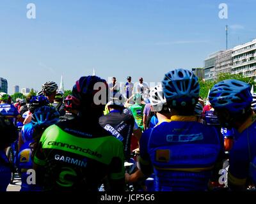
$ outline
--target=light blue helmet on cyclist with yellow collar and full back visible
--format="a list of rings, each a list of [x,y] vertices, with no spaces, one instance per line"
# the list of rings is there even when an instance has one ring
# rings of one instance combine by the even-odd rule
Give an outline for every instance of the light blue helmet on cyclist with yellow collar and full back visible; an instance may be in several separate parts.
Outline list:
[[[168,105],[195,106],[200,91],[198,78],[187,69],[175,69],[164,75],[163,91]]]

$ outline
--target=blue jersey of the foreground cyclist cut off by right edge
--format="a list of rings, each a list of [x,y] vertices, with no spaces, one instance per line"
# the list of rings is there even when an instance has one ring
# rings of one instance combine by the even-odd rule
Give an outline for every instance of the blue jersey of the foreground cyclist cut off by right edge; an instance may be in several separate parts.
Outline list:
[[[238,129],[239,133],[236,133],[238,135],[235,136],[236,142],[230,150],[230,166],[228,168],[228,179],[237,185],[244,185],[249,175],[256,178],[256,170],[253,171],[252,168],[252,164],[256,164],[256,120],[250,117],[244,122],[243,127]]]

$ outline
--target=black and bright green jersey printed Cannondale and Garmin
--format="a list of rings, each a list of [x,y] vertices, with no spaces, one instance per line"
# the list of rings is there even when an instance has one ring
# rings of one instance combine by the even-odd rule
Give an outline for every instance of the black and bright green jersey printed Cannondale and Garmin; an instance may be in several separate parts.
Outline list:
[[[97,191],[106,175],[110,184],[124,182],[122,142],[90,119],[63,120],[45,129],[34,163],[45,190]],[[112,187],[123,190],[120,184]]]

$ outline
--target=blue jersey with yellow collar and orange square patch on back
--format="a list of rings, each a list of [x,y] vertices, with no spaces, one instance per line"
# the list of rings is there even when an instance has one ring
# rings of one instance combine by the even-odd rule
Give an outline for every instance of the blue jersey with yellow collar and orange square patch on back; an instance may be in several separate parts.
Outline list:
[[[204,191],[221,152],[219,135],[196,117],[171,120],[143,133],[141,164],[154,166],[156,191]]]

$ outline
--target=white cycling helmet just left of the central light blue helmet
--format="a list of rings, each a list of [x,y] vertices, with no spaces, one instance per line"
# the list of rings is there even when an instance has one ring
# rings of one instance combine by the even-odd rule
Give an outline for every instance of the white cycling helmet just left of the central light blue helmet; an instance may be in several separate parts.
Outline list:
[[[162,85],[156,85],[156,87],[151,88],[148,99],[154,112],[170,111],[164,98]]]

